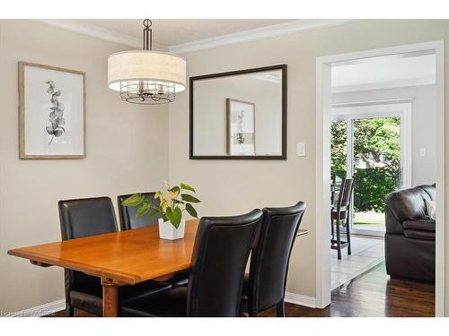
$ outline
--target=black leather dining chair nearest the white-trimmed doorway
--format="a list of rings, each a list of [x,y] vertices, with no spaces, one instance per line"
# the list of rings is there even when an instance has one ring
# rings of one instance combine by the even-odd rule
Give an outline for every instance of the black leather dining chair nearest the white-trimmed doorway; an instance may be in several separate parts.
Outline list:
[[[263,209],[260,232],[251,251],[250,273],[245,274],[241,312],[257,316],[277,306],[277,317],[285,316],[284,297],[288,261],[306,205]]]

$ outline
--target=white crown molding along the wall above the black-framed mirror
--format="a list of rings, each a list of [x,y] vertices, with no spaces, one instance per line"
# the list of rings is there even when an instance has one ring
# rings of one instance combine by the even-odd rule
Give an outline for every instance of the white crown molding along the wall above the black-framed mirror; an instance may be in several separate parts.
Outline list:
[[[304,19],[292,22],[262,27],[254,30],[244,30],[233,34],[218,36],[209,39],[199,39],[188,43],[182,43],[167,47],[173,53],[189,53],[192,51],[209,49],[213,47],[226,46],[235,43],[247,42],[255,39],[273,38],[280,35],[291,34],[297,31],[314,30],[325,27],[337,26],[353,19]]]

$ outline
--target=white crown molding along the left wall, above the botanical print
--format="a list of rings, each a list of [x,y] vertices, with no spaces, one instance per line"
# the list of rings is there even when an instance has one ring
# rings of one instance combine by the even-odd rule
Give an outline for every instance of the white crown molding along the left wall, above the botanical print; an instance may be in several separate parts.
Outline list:
[[[70,30],[79,34],[91,36],[97,39],[105,39],[110,42],[118,43],[128,47],[134,47],[138,50],[143,47],[143,40],[134,36],[123,34],[115,30],[107,30],[95,24],[88,22],[81,22],[80,20],[69,19],[36,19],[37,22],[47,23],[51,26],[61,28],[63,30]],[[167,47],[153,43],[154,50],[166,51]]]

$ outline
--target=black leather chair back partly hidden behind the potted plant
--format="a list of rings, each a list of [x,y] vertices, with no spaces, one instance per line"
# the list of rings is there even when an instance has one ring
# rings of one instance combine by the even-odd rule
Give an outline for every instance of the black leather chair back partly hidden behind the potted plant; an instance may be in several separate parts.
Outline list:
[[[156,193],[141,193],[146,200],[151,202],[155,207],[159,208],[159,200],[154,199],[154,194]],[[128,230],[132,228],[144,228],[147,226],[157,225],[157,220],[162,218],[162,214],[158,213],[152,217],[148,215],[136,217],[137,207],[128,207],[122,205],[129,196],[133,194],[122,194],[117,197],[117,202],[119,204],[119,218],[120,218],[120,228],[122,230]]]

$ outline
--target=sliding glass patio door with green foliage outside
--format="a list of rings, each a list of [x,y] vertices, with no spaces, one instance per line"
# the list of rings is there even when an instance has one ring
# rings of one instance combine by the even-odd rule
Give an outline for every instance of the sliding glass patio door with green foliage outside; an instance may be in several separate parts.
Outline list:
[[[355,178],[350,225],[356,234],[382,236],[385,196],[409,186],[410,107],[395,103],[332,108],[331,172],[337,191],[340,177]]]

